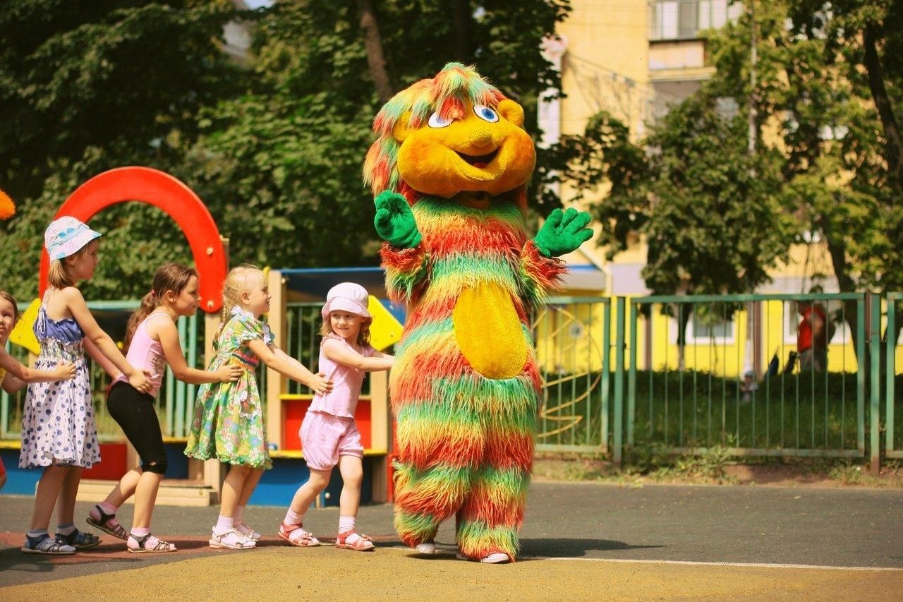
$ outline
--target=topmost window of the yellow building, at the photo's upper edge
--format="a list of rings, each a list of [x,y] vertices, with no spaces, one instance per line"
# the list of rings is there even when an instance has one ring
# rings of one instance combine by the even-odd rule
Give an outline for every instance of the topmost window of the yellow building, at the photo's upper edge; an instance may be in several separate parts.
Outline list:
[[[685,40],[719,29],[740,16],[743,5],[731,0],[651,0],[649,40]]]

